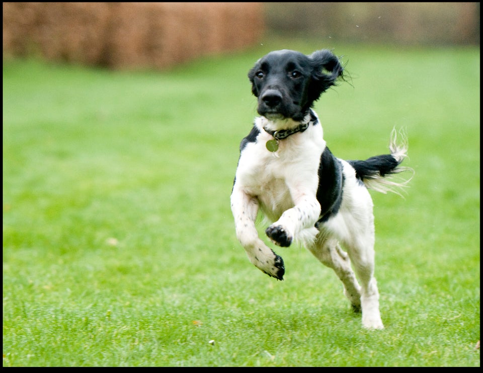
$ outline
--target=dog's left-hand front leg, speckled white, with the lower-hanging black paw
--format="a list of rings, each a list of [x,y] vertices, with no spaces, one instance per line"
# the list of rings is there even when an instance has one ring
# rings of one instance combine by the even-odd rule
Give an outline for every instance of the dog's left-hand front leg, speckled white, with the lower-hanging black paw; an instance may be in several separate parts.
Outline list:
[[[236,238],[245,248],[252,264],[269,276],[283,280],[285,267],[282,258],[258,237],[255,227],[258,209],[259,202],[256,198],[236,186],[233,188],[231,211],[235,220]]]

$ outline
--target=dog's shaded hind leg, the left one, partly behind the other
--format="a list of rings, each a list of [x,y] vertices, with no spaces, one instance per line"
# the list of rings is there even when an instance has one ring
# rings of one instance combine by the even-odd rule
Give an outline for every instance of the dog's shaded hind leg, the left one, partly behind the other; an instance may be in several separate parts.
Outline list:
[[[332,268],[344,284],[344,294],[356,311],[361,309],[361,287],[357,282],[351,261],[335,239],[317,240],[308,246],[310,252],[324,265]]]

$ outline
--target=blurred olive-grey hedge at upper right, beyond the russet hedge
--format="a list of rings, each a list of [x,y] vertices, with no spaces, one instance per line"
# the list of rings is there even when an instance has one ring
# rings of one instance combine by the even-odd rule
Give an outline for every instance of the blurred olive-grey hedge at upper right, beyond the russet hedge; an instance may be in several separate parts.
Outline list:
[[[282,36],[349,42],[479,45],[479,3],[264,3]]]

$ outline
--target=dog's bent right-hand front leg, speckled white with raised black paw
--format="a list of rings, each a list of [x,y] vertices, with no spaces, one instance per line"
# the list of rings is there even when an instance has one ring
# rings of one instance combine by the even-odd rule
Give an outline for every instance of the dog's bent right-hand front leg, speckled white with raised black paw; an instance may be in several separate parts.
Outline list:
[[[306,241],[313,240],[318,233],[314,225],[320,216],[320,204],[315,195],[310,192],[292,195],[295,206],[286,210],[265,231],[275,245],[282,247],[290,246],[297,236],[300,241]]]

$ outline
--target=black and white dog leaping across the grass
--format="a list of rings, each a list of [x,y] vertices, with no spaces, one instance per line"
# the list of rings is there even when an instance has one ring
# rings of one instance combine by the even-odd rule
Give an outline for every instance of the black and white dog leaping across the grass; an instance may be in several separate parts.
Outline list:
[[[236,237],[257,268],[279,280],[285,273],[282,258],[258,236],[255,220],[261,209],[273,222],[266,234],[275,245],[302,243],[342,280],[352,306],[362,309],[363,326],[383,329],[373,275],[373,204],[367,188],[386,192],[404,184],[384,176],[407,169],[399,166],[407,147],[396,144],[393,130],[390,155],[366,161],[332,155],[312,106],[342,72],[341,62],[329,50],[309,56],[279,50],[256,62],[248,77],[260,117],[240,144],[231,210]]]

